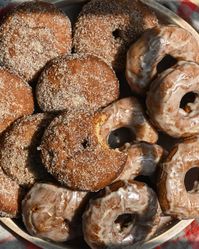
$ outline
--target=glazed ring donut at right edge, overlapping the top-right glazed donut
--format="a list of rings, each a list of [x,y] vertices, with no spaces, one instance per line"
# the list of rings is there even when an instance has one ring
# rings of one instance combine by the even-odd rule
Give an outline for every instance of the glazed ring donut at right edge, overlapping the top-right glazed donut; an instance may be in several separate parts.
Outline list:
[[[146,104],[149,116],[159,129],[173,137],[199,133],[198,81],[199,65],[182,61],[152,82]],[[181,106],[187,94],[194,95],[194,102],[185,101],[186,105]]]

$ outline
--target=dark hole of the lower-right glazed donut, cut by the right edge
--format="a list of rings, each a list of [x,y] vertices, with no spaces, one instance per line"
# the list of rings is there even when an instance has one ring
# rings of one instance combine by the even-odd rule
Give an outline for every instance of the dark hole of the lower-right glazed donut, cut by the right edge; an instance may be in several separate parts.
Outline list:
[[[184,178],[184,185],[189,193],[199,192],[199,167],[191,168]]]

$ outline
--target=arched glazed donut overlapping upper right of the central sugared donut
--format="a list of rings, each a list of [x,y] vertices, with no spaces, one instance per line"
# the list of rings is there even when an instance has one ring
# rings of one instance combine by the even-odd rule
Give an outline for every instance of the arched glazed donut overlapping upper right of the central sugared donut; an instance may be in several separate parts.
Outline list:
[[[144,110],[135,97],[123,98],[104,108],[98,115],[98,132],[104,144],[108,144],[111,132],[128,128],[137,141],[155,143],[158,135],[147,121]],[[119,138],[118,138],[119,139]]]

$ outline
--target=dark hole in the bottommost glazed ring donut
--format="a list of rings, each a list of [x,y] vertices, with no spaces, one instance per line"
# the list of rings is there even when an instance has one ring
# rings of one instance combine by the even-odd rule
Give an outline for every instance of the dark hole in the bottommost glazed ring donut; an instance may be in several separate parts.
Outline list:
[[[117,229],[122,232],[129,226],[135,223],[135,215],[134,214],[121,214],[115,220],[115,224]]]

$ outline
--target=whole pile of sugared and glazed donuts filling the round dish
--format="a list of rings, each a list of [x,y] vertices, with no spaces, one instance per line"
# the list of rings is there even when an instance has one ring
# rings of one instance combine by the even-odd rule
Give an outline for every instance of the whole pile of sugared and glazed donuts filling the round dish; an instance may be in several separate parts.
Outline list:
[[[139,248],[162,216],[199,217],[197,63],[197,39],[139,0],[91,0],[74,25],[50,3],[7,10],[0,215],[92,249]]]

